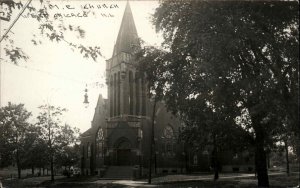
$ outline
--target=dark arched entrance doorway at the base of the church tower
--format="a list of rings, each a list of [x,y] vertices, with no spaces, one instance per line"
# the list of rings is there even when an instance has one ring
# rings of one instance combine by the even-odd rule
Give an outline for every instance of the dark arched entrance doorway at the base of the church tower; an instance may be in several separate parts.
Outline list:
[[[126,138],[121,138],[116,142],[115,147],[115,165],[129,166],[131,165],[131,144]]]

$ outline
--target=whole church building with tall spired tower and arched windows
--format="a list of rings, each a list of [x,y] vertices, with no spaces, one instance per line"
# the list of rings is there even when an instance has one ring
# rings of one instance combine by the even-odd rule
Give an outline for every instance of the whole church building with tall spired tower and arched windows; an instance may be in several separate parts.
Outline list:
[[[153,101],[144,76],[136,70],[133,53],[140,48],[130,4],[127,2],[113,54],[106,61],[108,99],[98,98],[91,128],[81,135],[81,169],[86,175],[111,176],[138,169],[149,171]],[[184,171],[180,121],[156,105],[153,168],[156,173]],[[154,170],[153,170],[154,172]]]

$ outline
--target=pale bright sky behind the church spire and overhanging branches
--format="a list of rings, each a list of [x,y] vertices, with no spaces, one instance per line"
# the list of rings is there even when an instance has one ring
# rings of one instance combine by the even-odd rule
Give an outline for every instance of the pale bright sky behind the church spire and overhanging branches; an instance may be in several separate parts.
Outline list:
[[[129,2],[139,37],[146,45],[160,45],[162,37],[150,22],[158,1]],[[51,16],[57,13],[82,14],[82,8],[89,7],[87,17],[63,18],[65,25],[80,26],[85,37],[81,39],[78,34],[69,32],[65,39],[86,46],[99,46],[103,57],[95,62],[92,58],[84,58],[78,50],[73,51],[65,42],[51,42],[40,35],[35,19],[21,16],[8,36],[29,59],[14,65],[3,50],[8,42],[1,42],[1,105],[5,106],[8,102],[25,104],[33,114],[32,123],[39,113],[38,106],[49,103],[64,107],[68,111],[63,120],[84,132],[91,126],[98,96],[101,94],[107,98],[105,60],[112,55],[126,1],[56,0],[50,3],[53,6]],[[105,8],[104,4],[112,8]],[[33,0],[32,5],[38,7],[40,3]],[[10,23],[1,21],[1,36],[19,11],[14,10]],[[25,10],[22,15],[27,14]],[[40,40],[41,44],[34,45],[33,39]],[[83,104],[85,88],[88,89],[87,108]]]

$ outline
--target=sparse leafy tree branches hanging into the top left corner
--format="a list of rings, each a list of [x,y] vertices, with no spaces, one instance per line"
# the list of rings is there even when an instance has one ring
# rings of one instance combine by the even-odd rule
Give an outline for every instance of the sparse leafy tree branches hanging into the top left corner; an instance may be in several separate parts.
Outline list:
[[[12,20],[13,15],[21,16],[24,11],[27,11],[27,17],[32,18],[38,23],[39,34],[33,34],[32,44],[40,45],[42,40],[38,36],[45,37],[50,41],[64,42],[71,47],[71,49],[79,51],[85,58],[92,58],[96,61],[98,56],[101,56],[100,47],[98,46],[85,46],[83,44],[76,44],[69,41],[66,37],[67,33],[76,34],[80,38],[85,37],[85,31],[79,26],[65,24],[61,17],[55,17],[53,15],[53,7],[56,5],[50,1],[40,0],[38,2],[32,2],[29,0],[27,4],[23,4],[21,1],[16,2],[13,0],[4,0],[0,2],[1,15],[0,20],[10,23],[13,27],[15,22],[18,21],[18,17]],[[11,28],[8,28],[3,32],[1,36],[1,46],[4,49],[5,55],[8,56],[10,61],[14,64],[18,64],[21,60],[27,61],[29,55],[27,55],[20,47],[14,45],[13,37],[10,36]],[[3,58],[3,57],[1,57]]]

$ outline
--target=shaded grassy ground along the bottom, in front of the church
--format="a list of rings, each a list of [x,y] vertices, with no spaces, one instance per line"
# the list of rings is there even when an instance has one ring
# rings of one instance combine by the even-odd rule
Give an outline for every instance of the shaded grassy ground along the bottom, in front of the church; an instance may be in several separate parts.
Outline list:
[[[273,175],[269,176],[270,187],[271,188],[289,188],[296,187],[298,185],[299,174],[292,174],[290,176]],[[23,180],[12,180],[4,181],[5,187],[9,188],[22,188],[22,187],[49,187],[49,188],[59,188],[59,187],[72,187],[72,188],[123,188],[123,187],[170,187],[170,188],[255,188],[257,187],[257,180],[255,177],[238,177],[238,178],[228,178],[220,179],[219,181],[212,180],[198,180],[198,181],[183,181],[183,182],[172,182],[172,183],[162,183],[157,185],[148,184],[136,184],[136,185],[126,185],[116,183],[114,180],[111,181],[97,181],[98,177],[95,176],[82,176],[82,177],[71,177],[62,178],[51,183],[49,180],[44,181],[40,184],[35,184],[30,181]],[[134,184],[134,182],[133,182]]]

